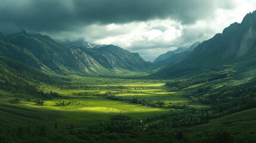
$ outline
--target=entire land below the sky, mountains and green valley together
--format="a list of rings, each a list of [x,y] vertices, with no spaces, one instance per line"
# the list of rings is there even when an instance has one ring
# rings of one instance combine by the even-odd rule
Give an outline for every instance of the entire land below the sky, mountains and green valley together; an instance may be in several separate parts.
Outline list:
[[[17,31],[0,32],[1,143],[256,141],[256,11],[153,63]]]

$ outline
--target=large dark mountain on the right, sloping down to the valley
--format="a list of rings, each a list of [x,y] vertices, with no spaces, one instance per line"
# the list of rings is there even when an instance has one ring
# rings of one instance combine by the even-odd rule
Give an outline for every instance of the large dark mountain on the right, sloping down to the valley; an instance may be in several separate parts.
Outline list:
[[[242,23],[233,23],[208,41],[202,42],[184,60],[171,63],[155,76],[178,76],[206,70],[234,69],[254,73],[256,61],[256,11]]]

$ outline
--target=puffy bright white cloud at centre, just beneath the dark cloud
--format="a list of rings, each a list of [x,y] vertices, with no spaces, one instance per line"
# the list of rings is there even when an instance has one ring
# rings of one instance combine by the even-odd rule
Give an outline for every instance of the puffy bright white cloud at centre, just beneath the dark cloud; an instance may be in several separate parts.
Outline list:
[[[174,20],[150,20],[127,24],[101,26],[102,38],[91,40],[97,43],[115,44],[127,49],[152,49],[156,46],[171,46],[172,41],[181,36],[182,26]],[[97,27],[97,29],[98,29]],[[105,29],[104,29],[105,27]],[[180,29],[181,28],[181,29]],[[86,31],[94,29],[87,27]],[[94,40],[93,40],[94,39]]]

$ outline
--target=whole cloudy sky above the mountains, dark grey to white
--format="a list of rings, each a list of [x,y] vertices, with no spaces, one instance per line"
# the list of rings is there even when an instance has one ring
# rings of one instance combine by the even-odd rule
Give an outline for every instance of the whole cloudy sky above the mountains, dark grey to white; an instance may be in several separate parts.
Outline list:
[[[0,30],[84,39],[138,52],[146,61],[206,41],[256,10],[254,0],[0,0]]]

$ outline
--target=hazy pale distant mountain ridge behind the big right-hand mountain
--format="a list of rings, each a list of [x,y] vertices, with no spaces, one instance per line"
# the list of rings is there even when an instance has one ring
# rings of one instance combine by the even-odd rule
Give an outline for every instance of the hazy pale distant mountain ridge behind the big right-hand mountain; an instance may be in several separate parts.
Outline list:
[[[175,49],[174,51],[168,51],[165,54],[159,55],[159,57],[156,58],[155,61],[153,61],[153,64],[156,66],[163,66],[166,64],[176,63],[177,61],[182,60],[192,52],[196,46],[198,46],[201,42],[193,43],[189,48],[186,47],[180,47]]]

